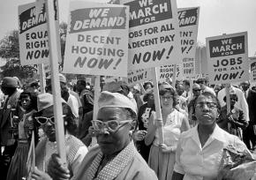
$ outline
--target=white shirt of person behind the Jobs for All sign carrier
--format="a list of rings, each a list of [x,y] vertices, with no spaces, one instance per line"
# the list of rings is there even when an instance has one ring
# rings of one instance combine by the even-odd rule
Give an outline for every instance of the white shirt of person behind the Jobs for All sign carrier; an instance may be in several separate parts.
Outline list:
[[[248,109],[247,101],[245,99],[245,94],[243,93],[243,91],[241,89],[238,89],[235,86],[230,86],[230,89],[235,91],[235,94],[237,94],[238,101],[236,102],[235,107],[243,110],[243,112],[245,113],[245,120],[247,122],[249,122],[250,121],[249,109]],[[225,95],[226,95],[226,89],[222,88],[222,90],[219,91],[219,93],[218,93],[218,100],[220,101],[221,107],[226,105],[226,103],[223,101],[223,97]]]

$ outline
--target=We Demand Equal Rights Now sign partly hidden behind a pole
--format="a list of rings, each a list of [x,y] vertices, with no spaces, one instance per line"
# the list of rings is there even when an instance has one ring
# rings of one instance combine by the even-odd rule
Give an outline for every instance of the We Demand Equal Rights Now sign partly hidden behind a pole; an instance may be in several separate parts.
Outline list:
[[[58,26],[55,3],[56,26]],[[49,37],[46,24],[46,5],[36,11],[37,3],[19,6],[19,55],[20,64],[49,64]]]

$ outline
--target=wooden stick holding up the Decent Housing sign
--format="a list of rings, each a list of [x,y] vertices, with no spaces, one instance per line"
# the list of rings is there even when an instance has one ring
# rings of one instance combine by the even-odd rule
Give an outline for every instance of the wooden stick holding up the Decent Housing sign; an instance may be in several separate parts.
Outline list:
[[[100,96],[100,76],[96,76],[95,78],[95,82],[94,82],[94,118],[93,120],[97,119],[97,114],[98,114],[98,110],[99,110],[99,104],[98,104],[98,100],[99,100],[99,96]],[[96,137],[92,137],[92,143],[91,146],[94,146],[95,144],[97,144],[97,139]]]

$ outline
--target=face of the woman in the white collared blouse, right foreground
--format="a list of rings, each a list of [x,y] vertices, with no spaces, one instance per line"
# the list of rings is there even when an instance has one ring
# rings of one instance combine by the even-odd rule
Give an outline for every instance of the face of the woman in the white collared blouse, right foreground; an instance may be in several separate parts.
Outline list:
[[[211,96],[200,94],[195,104],[195,116],[201,125],[215,125],[219,112]]]

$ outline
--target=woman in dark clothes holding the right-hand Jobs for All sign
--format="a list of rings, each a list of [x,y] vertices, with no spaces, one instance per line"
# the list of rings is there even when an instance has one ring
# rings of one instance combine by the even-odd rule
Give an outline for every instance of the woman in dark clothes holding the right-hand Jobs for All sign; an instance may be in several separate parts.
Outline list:
[[[223,101],[226,102],[226,96]],[[227,104],[222,107],[220,117],[217,124],[230,134],[236,135],[239,139],[242,139],[242,129],[248,126],[248,122],[245,120],[245,114],[242,109],[235,107],[237,102],[237,94],[235,91],[230,91],[230,114],[227,115]]]

